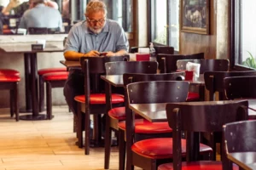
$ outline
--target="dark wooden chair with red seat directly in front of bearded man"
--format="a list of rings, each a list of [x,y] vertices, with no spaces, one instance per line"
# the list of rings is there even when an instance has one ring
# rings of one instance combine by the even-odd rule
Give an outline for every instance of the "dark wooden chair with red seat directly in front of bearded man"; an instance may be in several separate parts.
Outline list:
[[[83,147],[83,128],[82,122],[84,122],[85,131],[85,144],[84,153],[89,155],[90,150],[90,114],[94,114],[94,130],[96,136],[96,144],[102,139],[101,135],[101,114],[105,113],[106,97],[104,89],[101,87],[100,76],[106,73],[105,63],[111,61],[124,61],[129,60],[129,55],[116,56],[116,57],[82,57],[80,63],[82,71],[84,72],[84,95],[75,97],[78,103],[78,128],[77,135],[79,138],[79,147]],[[123,105],[124,97],[120,94],[112,95],[113,107]],[[82,117],[84,113],[84,119]]]

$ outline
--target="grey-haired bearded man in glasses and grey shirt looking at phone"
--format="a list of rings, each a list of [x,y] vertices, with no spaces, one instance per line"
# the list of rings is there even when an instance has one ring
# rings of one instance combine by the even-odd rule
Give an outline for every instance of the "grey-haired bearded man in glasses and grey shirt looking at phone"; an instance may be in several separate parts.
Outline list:
[[[86,20],[75,24],[68,33],[64,49],[66,60],[96,57],[100,52],[108,52],[108,57],[128,53],[129,42],[125,31],[118,22],[108,20],[106,16],[107,7],[102,1],[94,0],[87,4]],[[84,75],[81,70],[70,69],[64,95],[74,114],[77,113],[74,96],[79,94],[84,94]]]

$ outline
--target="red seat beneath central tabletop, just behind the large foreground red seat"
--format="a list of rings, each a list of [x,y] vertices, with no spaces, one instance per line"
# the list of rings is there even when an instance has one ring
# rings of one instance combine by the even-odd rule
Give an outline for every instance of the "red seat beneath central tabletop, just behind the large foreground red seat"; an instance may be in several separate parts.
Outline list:
[[[136,119],[135,133],[171,133],[168,122],[148,122],[146,119]],[[125,121],[119,122],[119,128],[125,130]]]

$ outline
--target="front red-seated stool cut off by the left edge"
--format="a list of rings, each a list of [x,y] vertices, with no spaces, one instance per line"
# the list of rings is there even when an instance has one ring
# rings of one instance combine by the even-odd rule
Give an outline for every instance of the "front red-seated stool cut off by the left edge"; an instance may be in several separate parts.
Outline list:
[[[19,105],[18,105],[18,83],[20,77],[15,75],[0,74],[0,89],[8,89],[10,94],[10,114],[15,116],[16,121],[19,121]]]

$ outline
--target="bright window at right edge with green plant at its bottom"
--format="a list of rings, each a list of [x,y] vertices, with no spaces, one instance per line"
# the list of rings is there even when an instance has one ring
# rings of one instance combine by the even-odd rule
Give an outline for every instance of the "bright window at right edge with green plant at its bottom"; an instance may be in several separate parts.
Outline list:
[[[256,36],[253,33],[256,28],[252,18],[256,15],[255,0],[235,0],[231,2],[231,35],[230,53],[232,63],[235,67],[256,69]],[[233,11],[233,12],[232,12]],[[233,21],[232,21],[233,19]]]

